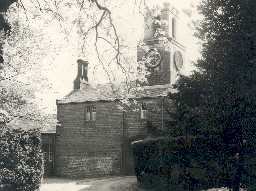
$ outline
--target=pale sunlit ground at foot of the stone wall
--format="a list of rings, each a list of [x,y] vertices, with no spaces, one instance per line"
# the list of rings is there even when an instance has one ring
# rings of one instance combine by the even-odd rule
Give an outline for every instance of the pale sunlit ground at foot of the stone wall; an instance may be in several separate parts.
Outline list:
[[[45,179],[40,191],[137,191],[136,177],[110,177],[84,180]]]

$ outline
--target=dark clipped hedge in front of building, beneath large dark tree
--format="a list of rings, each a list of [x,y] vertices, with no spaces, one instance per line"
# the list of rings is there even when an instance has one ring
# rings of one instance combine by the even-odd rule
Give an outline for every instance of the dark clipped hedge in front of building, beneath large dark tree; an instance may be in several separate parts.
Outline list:
[[[148,138],[132,146],[138,182],[156,190],[231,187],[239,168],[236,148],[218,149],[218,141],[203,137]],[[256,156],[245,156],[243,169],[250,172],[243,172],[241,182],[250,190],[256,180]]]

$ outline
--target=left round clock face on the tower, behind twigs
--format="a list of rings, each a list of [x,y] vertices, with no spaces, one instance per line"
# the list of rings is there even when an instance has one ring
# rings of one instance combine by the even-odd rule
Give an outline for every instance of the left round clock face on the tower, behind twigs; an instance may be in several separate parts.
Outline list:
[[[150,49],[145,54],[145,63],[149,68],[156,68],[161,63],[161,55],[157,49]]]

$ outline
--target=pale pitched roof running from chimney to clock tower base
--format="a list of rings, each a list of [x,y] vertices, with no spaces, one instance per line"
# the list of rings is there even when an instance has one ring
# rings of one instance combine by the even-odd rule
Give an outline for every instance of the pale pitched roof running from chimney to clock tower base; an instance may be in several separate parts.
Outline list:
[[[132,88],[129,91],[127,89],[124,84],[119,86],[118,89],[113,88],[112,84],[99,84],[96,86],[83,84],[81,89],[73,90],[64,98],[57,100],[57,104],[114,101],[124,98],[163,97],[174,91],[170,84],[143,86]]]

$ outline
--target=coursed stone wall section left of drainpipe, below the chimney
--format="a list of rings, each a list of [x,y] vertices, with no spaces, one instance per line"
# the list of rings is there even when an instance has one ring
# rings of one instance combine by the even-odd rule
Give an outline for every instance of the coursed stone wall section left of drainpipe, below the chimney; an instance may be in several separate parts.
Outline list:
[[[97,120],[85,121],[86,106],[58,105],[56,174],[68,177],[120,171],[122,112],[113,103],[96,103]],[[111,111],[111,113],[110,113]],[[111,114],[111,115],[110,115]]]

